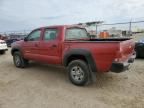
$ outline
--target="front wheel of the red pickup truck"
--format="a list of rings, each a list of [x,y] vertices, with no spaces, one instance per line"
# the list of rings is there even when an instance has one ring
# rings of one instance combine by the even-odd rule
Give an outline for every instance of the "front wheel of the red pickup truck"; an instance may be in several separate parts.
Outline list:
[[[13,62],[18,68],[24,68],[28,65],[28,60],[24,59],[18,51],[13,54]]]

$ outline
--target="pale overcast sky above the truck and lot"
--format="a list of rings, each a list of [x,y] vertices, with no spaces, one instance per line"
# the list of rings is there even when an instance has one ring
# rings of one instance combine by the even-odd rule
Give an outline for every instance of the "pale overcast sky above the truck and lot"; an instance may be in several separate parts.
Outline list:
[[[0,32],[95,20],[141,20],[143,11],[143,0],[0,0]]]

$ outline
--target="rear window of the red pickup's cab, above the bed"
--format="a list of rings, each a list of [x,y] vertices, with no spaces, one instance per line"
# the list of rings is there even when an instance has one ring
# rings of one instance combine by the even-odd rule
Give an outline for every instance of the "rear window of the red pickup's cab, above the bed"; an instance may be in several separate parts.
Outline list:
[[[69,28],[66,31],[66,40],[69,39],[87,39],[88,35],[85,29]]]

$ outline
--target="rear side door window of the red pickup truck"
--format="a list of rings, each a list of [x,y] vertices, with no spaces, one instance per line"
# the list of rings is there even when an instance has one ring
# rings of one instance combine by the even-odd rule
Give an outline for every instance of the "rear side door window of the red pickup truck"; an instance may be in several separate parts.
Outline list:
[[[55,40],[58,34],[57,29],[46,29],[44,33],[44,40]]]

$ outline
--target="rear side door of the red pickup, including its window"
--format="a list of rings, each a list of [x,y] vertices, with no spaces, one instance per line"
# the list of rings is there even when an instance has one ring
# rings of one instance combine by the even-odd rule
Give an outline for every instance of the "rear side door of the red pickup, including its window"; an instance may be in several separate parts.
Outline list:
[[[40,58],[49,64],[60,64],[61,45],[58,28],[46,28],[40,42]]]

